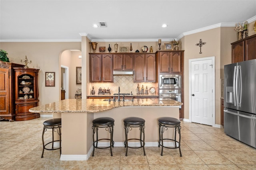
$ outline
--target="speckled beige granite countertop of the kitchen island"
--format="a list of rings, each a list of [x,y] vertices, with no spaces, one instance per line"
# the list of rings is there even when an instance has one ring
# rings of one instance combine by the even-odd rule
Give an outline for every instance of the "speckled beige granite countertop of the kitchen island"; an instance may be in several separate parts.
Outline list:
[[[96,113],[124,106],[181,106],[183,103],[176,100],[134,99],[134,101],[108,102],[104,99],[66,99],[42,106],[30,108],[32,113],[65,113],[88,112]]]

